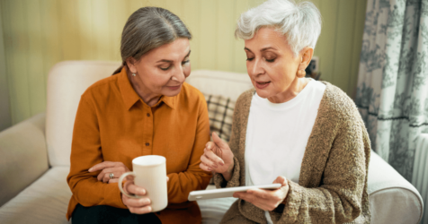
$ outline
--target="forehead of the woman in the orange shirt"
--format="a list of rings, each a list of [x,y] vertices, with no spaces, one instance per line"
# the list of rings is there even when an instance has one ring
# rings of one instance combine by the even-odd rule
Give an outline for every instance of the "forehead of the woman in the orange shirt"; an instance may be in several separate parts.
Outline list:
[[[150,61],[157,61],[161,59],[183,60],[183,57],[189,54],[190,49],[191,45],[189,39],[175,39],[171,43],[150,50],[141,58]]]

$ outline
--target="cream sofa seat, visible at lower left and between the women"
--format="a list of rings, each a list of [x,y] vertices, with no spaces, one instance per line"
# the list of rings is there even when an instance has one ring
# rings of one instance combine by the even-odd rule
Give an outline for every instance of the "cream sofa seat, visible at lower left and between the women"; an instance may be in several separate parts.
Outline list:
[[[0,223],[70,223],[66,219],[71,191],[67,185],[69,168],[50,168],[11,201],[0,207]],[[209,185],[208,188],[215,188]],[[217,224],[236,198],[198,201],[202,224]]]

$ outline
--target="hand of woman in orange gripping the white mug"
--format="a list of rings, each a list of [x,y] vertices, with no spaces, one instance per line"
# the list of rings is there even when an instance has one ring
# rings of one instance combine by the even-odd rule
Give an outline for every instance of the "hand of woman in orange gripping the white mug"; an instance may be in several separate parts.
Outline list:
[[[125,204],[131,213],[135,214],[146,214],[152,211],[150,204],[150,198],[147,196],[147,191],[145,188],[134,185],[134,178],[128,176],[128,181],[123,185],[123,190],[127,194],[135,194],[141,198],[131,198],[125,194],[122,194],[122,202]],[[169,177],[166,177],[166,182],[169,181]]]

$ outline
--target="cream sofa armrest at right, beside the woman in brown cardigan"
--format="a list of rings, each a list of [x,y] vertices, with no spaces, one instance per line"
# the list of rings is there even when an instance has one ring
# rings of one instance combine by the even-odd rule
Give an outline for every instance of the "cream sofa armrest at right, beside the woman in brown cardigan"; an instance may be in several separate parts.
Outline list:
[[[422,219],[421,194],[374,151],[370,155],[368,192],[371,223],[416,224]]]

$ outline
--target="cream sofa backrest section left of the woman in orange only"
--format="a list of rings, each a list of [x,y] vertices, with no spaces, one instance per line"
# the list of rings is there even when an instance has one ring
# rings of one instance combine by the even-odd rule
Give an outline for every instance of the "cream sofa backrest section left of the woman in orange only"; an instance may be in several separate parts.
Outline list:
[[[120,66],[120,62],[65,61],[49,72],[46,143],[50,166],[70,166],[71,139],[80,96]]]

